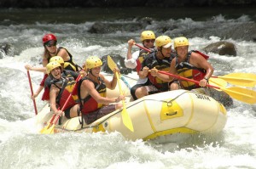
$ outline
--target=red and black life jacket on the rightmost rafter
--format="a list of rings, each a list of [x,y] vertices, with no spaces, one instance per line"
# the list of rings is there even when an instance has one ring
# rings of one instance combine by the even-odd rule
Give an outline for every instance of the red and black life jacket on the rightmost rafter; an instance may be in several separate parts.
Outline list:
[[[199,82],[199,81],[201,81],[201,79],[203,79],[206,76],[207,70],[197,68],[197,67],[195,67],[195,65],[189,64],[189,59],[191,57],[192,52],[200,54],[205,59],[209,59],[209,56],[207,56],[206,54],[202,54],[201,52],[199,52],[197,50],[191,50],[191,51],[189,51],[189,53],[187,55],[187,59],[185,61],[178,64],[177,58],[176,58],[175,68],[177,70],[178,76],[183,76],[188,79],[193,79],[193,80]],[[179,80],[179,82],[180,82],[181,87],[183,87],[183,89],[187,89],[187,90],[191,90],[193,88],[200,87],[198,84],[196,84],[194,82],[188,82],[185,80]]]

